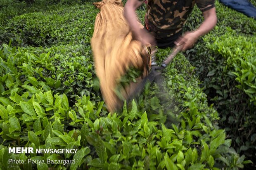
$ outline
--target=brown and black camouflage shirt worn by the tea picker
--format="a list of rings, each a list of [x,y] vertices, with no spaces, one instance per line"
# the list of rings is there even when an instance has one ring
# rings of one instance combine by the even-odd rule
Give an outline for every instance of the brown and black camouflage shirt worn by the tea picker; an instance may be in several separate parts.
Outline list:
[[[146,0],[140,0],[146,1]],[[145,25],[157,39],[180,32],[195,4],[201,11],[214,7],[215,0],[147,0]]]

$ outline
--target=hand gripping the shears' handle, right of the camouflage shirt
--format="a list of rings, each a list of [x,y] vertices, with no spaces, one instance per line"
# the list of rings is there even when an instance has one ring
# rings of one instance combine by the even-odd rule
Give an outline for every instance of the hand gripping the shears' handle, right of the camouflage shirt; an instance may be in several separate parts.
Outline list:
[[[197,42],[199,36],[196,32],[186,32],[182,37],[179,37],[177,41],[175,41],[176,46],[183,46],[182,51],[185,51],[189,48],[192,48],[194,44]]]

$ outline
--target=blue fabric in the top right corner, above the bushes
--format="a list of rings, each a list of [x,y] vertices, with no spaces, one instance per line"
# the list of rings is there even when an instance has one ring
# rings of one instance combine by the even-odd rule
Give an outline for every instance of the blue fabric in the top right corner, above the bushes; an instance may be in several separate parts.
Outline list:
[[[256,8],[247,0],[220,0],[224,5],[256,19]]]

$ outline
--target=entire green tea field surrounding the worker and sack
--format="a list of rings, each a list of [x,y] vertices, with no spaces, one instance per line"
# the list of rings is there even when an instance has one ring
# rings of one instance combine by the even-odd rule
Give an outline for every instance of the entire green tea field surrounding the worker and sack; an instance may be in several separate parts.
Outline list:
[[[164,70],[165,92],[147,85],[109,113],[90,47],[92,2],[0,1],[0,170],[256,168],[256,20],[217,0],[218,24]],[[143,22],[145,6],[137,14]],[[202,21],[195,8],[184,31]],[[157,62],[171,51],[159,49]]]

